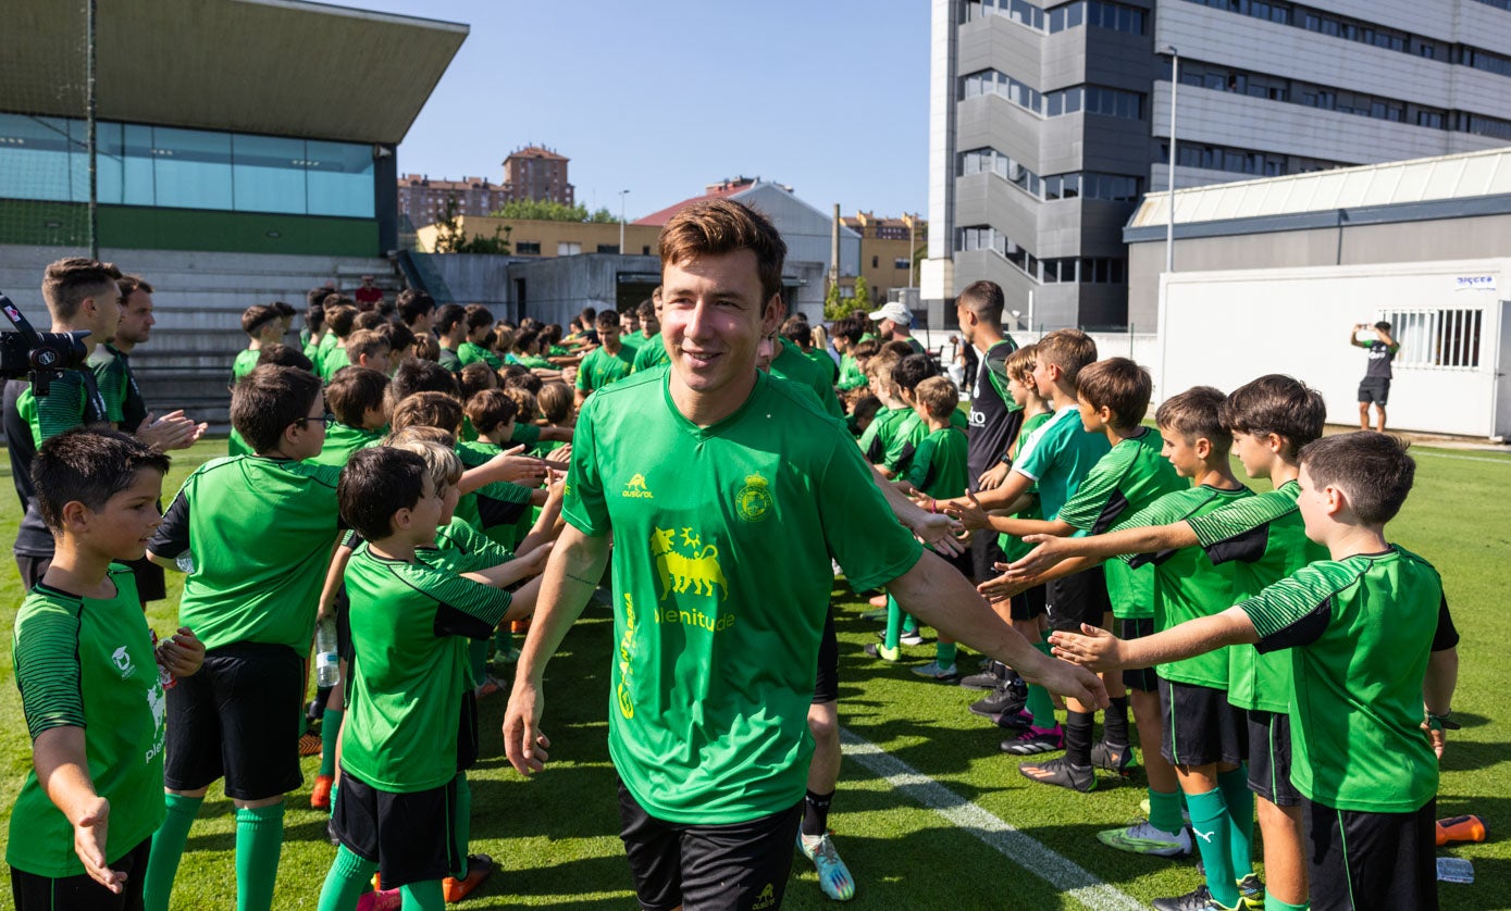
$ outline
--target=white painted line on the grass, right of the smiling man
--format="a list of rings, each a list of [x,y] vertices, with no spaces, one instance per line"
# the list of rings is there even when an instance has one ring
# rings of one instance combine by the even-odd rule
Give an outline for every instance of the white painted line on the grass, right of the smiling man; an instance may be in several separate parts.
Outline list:
[[[1144,903],[1123,890],[1108,885],[1077,864],[1044,848],[1011,823],[956,795],[923,772],[896,758],[870,740],[840,728],[845,757],[866,766],[893,790],[899,790],[938,813],[955,826],[996,848],[1014,864],[1044,879],[1094,911],[1142,911]],[[1000,885],[1000,881],[997,881]],[[982,884],[982,888],[997,888]]]

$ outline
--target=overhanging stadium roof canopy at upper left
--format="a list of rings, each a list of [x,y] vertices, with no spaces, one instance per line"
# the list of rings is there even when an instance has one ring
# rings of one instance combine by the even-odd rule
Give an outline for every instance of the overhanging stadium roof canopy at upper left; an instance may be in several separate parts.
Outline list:
[[[85,2],[6,0],[0,110],[85,115]],[[467,38],[458,23],[304,0],[98,5],[97,116],[397,144]]]

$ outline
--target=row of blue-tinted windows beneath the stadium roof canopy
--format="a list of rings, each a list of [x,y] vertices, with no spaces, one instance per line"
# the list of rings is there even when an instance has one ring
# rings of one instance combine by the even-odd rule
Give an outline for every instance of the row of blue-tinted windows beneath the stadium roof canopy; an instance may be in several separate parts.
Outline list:
[[[364,144],[98,121],[95,148],[104,204],[373,216]],[[88,202],[85,121],[0,113],[0,198]]]

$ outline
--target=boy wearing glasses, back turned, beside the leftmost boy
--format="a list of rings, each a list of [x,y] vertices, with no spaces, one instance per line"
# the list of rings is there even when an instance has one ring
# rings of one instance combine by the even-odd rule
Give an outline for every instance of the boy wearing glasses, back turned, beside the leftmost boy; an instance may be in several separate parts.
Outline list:
[[[231,423],[257,455],[199,467],[153,536],[153,562],[192,560],[178,618],[209,650],[204,671],[168,693],[168,819],[153,838],[145,891],[154,911],[168,908],[189,828],[222,777],[236,804],[237,908],[272,906],[284,795],[304,780],[295,707],[338,533],[338,471],[307,461],[329,420],[316,376],[257,367],[231,391]]]

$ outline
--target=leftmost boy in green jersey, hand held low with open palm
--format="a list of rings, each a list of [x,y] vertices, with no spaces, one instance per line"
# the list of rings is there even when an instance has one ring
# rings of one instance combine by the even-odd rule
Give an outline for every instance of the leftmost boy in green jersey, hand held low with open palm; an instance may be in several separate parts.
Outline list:
[[[115,431],[68,431],[33,461],[57,536],[12,633],[32,770],[11,810],[6,863],[20,911],[139,908],[163,819],[163,686],[199,669],[189,628],[153,648],[130,568],[162,521],[168,456]],[[109,823],[109,840],[107,840]]]

